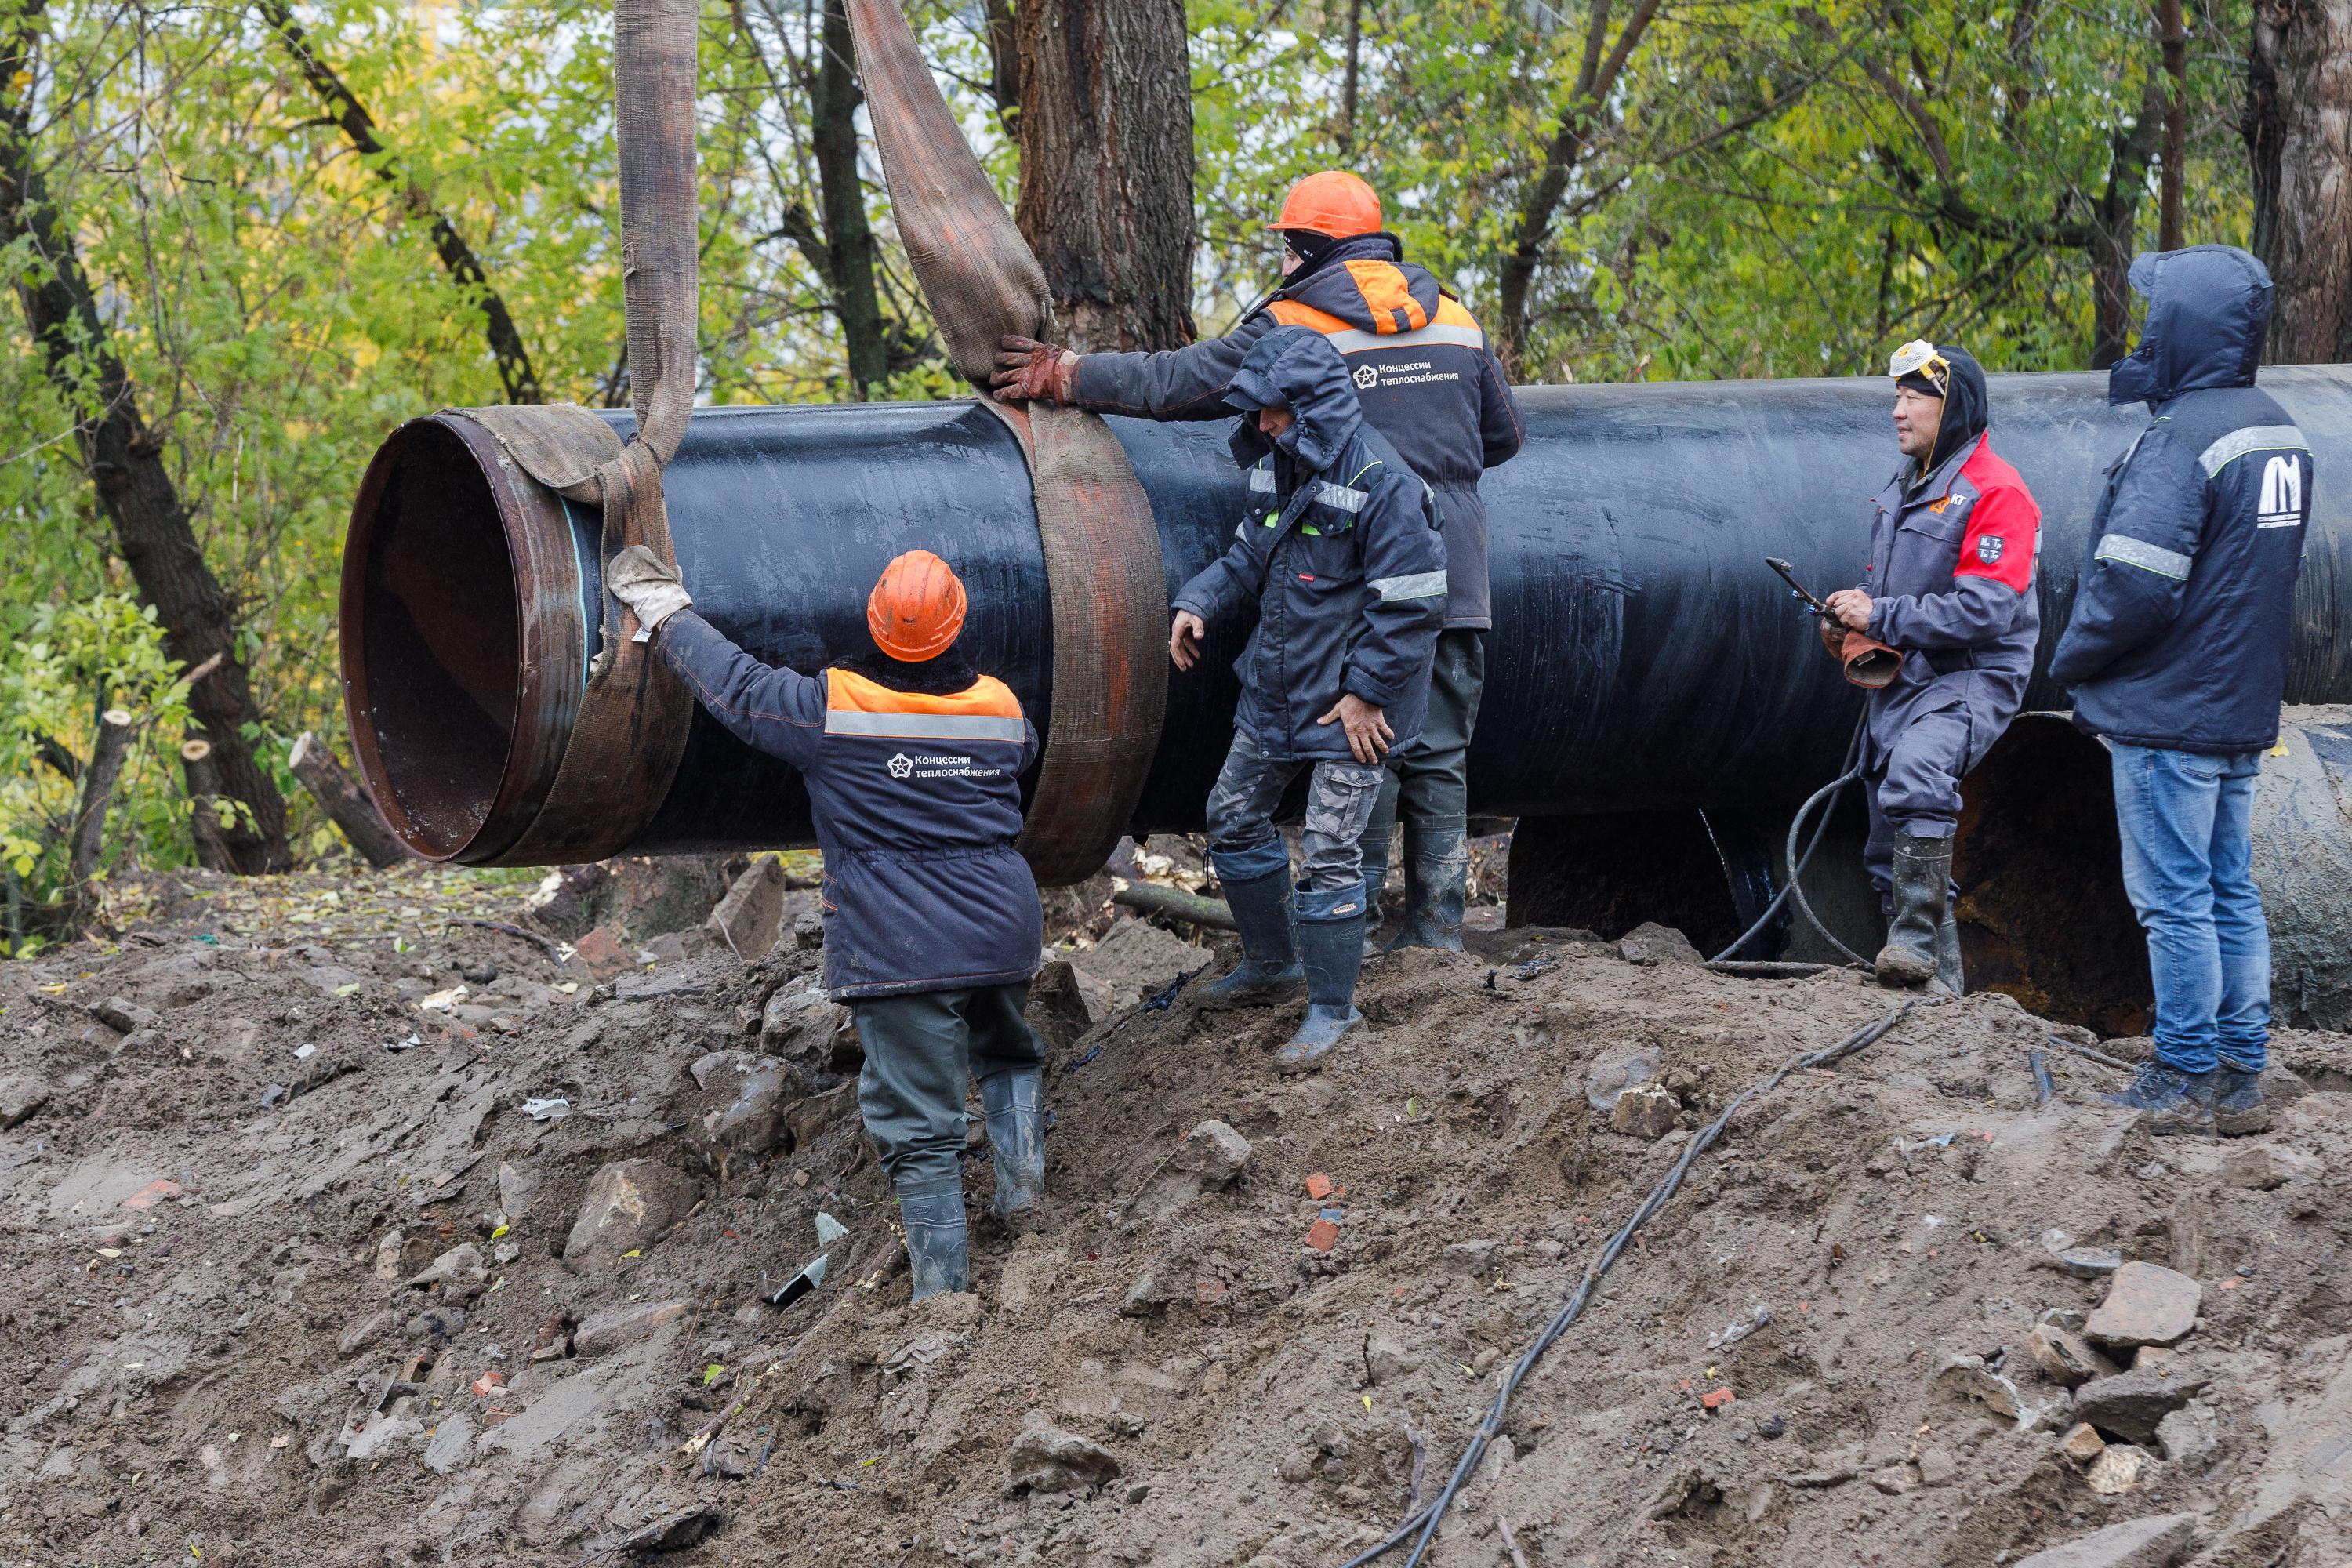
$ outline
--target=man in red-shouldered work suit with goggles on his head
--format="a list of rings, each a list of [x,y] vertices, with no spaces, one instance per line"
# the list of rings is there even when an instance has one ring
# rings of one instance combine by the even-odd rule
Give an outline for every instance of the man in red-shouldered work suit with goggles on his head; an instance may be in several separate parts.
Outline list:
[[[1966,350],[1905,343],[1889,374],[1903,465],[1877,494],[1863,585],[1830,595],[1820,635],[1832,656],[1846,630],[1903,654],[1863,708],[1863,863],[1886,912],[1877,973],[1957,997],[1959,780],[2025,701],[2042,637],[2042,508],[1992,451],[1985,371]]]

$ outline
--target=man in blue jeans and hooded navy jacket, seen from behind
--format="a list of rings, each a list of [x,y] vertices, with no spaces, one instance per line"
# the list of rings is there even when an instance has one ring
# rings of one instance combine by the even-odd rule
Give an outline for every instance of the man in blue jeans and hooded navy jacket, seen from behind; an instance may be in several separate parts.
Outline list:
[[[2249,870],[2260,757],[2279,741],[2312,503],[2303,433],[2253,386],[2270,273],[2241,249],[2143,254],[2140,348],[2110,402],[2154,421],[2107,470],[2051,679],[2114,755],[2124,891],[2147,929],[2157,1058],[2110,1105],[2152,1133],[2258,1133],[2270,931]]]

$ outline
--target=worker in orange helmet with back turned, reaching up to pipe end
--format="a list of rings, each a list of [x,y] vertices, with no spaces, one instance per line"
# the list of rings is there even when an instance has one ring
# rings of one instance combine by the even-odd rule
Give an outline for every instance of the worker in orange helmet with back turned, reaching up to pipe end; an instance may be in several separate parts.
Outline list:
[[[1044,1190],[1044,1046],[1023,1011],[1042,910],[1021,832],[1037,731],[1004,682],[955,651],[964,585],[910,550],[866,602],[875,654],[776,670],[694,614],[644,545],[604,581],[701,705],[800,769],[826,853],[826,990],[866,1046],[858,1110],[898,1190],[915,1300],[969,1286],[964,1074],[981,1081],[995,1213]]]

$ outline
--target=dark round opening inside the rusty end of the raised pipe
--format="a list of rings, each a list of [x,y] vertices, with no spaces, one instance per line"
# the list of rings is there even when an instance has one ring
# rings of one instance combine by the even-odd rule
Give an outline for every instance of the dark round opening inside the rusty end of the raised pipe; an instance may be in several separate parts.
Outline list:
[[[343,581],[350,729],[393,830],[433,860],[492,816],[515,745],[524,661],[499,498],[437,421],[376,454]]]

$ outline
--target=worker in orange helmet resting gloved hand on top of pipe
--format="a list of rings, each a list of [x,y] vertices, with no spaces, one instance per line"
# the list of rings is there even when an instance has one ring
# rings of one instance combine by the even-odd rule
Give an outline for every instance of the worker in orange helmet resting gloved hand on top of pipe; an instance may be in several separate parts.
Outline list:
[[[1291,186],[1282,214],[1282,287],[1223,339],[1169,353],[1075,355],[1004,339],[1002,397],[1044,397],[1101,414],[1223,418],[1251,346],[1275,327],[1331,341],[1355,378],[1364,418],[1437,491],[1446,529],[1446,616],[1437,637],[1430,715],[1397,745],[1364,832],[1378,919],[1388,837],[1404,811],[1404,929],[1390,947],[1461,947],[1470,872],[1470,731],[1486,682],[1486,508],[1479,475],[1519,451],[1526,425],[1477,317],[1428,268],[1381,233],[1381,197],[1355,174],[1324,169]]]

